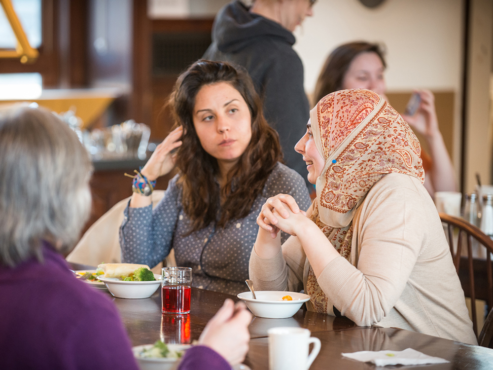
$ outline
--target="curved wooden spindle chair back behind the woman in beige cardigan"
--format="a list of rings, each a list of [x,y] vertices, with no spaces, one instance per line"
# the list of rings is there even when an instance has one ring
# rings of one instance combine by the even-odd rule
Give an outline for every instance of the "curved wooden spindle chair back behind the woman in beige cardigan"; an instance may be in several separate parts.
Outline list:
[[[493,314],[488,315],[489,325],[483,327],[483,331],[489,330],[490,333],[481,332],[478,335],[476,299],[485,300],[491,311],[493,307],[493,273],[492,258],[493,240],[481,229],[459,217],[440,213],[440,220],[446,224],[446,234],[449,241],[450,252],[456,267],[457,274],[466,297],[471,298],[471,316],[473,329],[476,336],[484,338],[483,346],[490,347],[493,336]],[[458,230],[458,233],[457,231]],[[466,243],[464,243],[466,241]],[[476,241],[473,243],[473,241]],[[463,245],[466,244],[466,245]],[[486,248],[485,258],[475,258],[473,244],[478,247]],[[475,251],[476,254],[481,251]],[[488,321],[488,320],[487,320]],[[491,328],[490,328],[491,327]],[[486,343],[488,342],[488,343]],[[485,345],[486,344],[486,345]]]

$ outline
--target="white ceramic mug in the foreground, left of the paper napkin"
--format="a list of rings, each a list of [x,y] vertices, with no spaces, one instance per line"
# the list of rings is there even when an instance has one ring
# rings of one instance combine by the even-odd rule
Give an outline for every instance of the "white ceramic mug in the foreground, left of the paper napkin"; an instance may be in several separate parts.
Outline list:
[[[271,328],[269,334],[269,370],[308,370],[320,351],[320,339],[303,328]],[[313,349],[308,355],[310,343]]]

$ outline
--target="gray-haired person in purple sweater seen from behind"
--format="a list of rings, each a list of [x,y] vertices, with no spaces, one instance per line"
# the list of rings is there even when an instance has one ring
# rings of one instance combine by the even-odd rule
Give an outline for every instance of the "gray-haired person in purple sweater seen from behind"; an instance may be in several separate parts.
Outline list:
[[[91,169],[52,113],[0,112],[0,369],[138,370],[116,308],[77,281],[62,256],[89,215]],[[179,369],[243,361],[250,319],[227,299]]]

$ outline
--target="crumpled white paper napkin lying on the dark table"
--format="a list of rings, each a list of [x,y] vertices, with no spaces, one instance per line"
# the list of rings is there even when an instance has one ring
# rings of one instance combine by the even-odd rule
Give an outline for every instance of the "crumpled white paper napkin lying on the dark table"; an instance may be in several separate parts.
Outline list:
[[[450,362],[440,357],[425,355],[412,348],[407,348],[404,351],[359,351],[343,353],[342,355],[361,362],[371,362],[376,366],[443,364]]]

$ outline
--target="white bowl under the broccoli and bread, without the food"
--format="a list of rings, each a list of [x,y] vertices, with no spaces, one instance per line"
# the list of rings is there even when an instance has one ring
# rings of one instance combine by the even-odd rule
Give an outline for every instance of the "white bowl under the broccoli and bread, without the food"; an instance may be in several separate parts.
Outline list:
[[[117,298],[148,298],[161,285],[161,275],[154,274],[155,281],[122,281],[118,278],[107,278],[105,275],[98,279],[105,283],[109,293]]]

